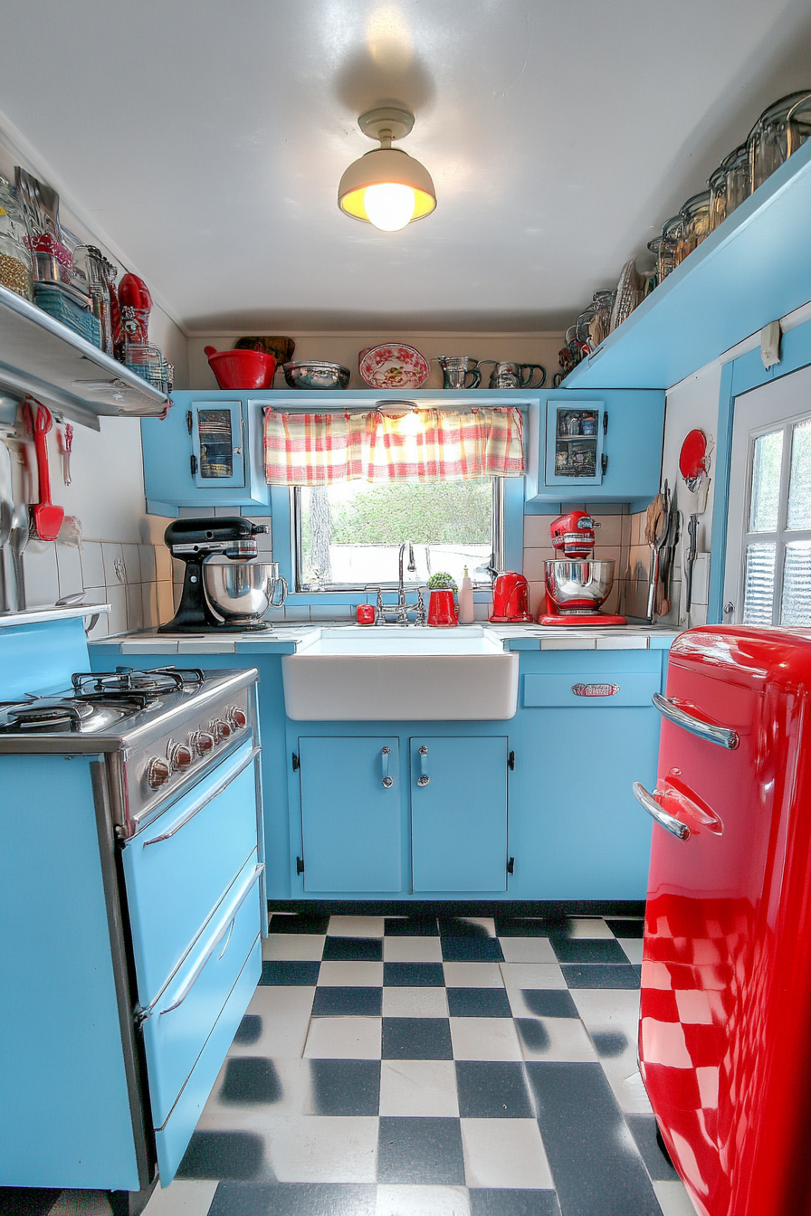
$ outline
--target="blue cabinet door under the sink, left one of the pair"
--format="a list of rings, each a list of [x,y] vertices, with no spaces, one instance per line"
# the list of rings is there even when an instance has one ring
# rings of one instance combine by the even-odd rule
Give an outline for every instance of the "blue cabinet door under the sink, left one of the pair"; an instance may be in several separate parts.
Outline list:
[[[299,738],[305,891],[402,889],[398,744]]]

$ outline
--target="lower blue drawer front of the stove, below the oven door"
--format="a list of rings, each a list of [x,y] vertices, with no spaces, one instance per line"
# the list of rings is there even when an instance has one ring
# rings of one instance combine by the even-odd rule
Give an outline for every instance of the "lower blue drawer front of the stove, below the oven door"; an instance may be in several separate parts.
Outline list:
[[[147,1010],[143,1043],[156,1127],[169,1118],[261,931],[260,873],[254,852],[212,917],[209,929],[160,1000]]]

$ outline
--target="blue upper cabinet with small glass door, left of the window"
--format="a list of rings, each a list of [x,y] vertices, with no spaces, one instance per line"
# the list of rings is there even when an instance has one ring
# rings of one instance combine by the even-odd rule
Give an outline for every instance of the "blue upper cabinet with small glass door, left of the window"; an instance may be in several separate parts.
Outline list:
[[[263,461],[269,394],[173,393],[165,418],[143,418],[143,485],[150,514],[179,507],[270,510]]]

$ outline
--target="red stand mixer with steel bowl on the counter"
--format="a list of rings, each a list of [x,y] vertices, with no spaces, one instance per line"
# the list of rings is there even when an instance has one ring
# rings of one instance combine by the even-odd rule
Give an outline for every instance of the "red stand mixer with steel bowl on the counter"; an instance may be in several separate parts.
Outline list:
[[[626,625],[625,617],[599,612],[614,582],[614,562],[595,559],[595,524],[585,511],[569,511],[551,524],[559,557],[544,563],[546,613],[540,625]]]

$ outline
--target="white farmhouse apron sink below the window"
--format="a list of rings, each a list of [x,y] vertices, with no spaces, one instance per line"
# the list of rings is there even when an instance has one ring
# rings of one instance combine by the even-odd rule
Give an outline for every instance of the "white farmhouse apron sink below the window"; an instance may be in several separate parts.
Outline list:
[[[282,658],[297,722],[492,721],[518,704],[518,654],[480,625],[322,629]]]

